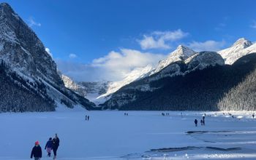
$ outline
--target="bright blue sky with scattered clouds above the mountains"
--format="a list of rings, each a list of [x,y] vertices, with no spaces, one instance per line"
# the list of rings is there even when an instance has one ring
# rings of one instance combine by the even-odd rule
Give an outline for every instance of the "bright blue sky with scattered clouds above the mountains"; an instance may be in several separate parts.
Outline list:
[[[78,81],[120,80],[155,65],[178,44],[200,51],[241,37],[256,41],[253,0],[4,2],[37,33],[61,71]],[[116,60],[123,64],[113,65]]]

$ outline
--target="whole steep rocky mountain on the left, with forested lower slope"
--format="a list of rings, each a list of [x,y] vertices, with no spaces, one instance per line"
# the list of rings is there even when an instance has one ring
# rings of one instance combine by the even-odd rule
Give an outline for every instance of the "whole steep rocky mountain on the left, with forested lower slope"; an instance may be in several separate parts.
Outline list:
[[[3,95],[2,98],[10,103],[6,103],[7,106],[0,105],[1,111],[2,108],[7,108],[4,111],[20,111],[15,106],[15,102],[19,101],[23,105],[30,104],[23,106],[22,111],[49,111],[46,104],[50,111],[54,111],[61,104],[69,108],[80,105],[93,109],[95,106],[64,86],[57,73],[56,63],[45,51],[42,41],[6,3],[0,4],[0,60],[4,66],[1,68],[5,77],[1,84],[9,79],[10,90],[25,89],[27,96],[20,97],[18,92]],[[34,100],[31,95],[34,95]],[[31,102],[27,102],[29,100]],[[50,103],[38,103],[45,100]]]

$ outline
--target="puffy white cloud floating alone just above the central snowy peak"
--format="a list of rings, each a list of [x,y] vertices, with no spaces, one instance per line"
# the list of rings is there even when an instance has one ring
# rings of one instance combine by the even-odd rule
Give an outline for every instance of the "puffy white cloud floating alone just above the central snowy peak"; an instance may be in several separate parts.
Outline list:
[[[178,29],[176,31],[154,31],[151,34],[143,35],[143,39],[138,40],[142,49],[170,49],[173,41],[183,39],[189,33]]]

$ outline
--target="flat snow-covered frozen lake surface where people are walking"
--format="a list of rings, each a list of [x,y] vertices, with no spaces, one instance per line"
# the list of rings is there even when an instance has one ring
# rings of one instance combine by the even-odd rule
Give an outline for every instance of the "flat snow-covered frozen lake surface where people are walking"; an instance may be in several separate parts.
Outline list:
[[[232,112],[234,118],[227,112],[206,112],[205,126],[200,125],[205,112],[127,113],[0,113],[0,160],[29,159],[34,142],[39,140],[43,149],[55,133],[60,139],[57,157],[63,160],[256,159],[256,119],[251,112]],[[199,120],[197,127],[194,119]],[[166,149],[151,151],[159,148]],[[43,150],[42,159],[52,158]]]

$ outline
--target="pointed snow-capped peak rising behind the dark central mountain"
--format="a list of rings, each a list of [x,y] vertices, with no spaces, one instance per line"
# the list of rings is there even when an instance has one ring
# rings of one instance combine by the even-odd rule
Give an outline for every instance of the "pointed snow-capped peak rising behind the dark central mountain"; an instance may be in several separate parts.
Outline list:
[[[157,73],[161,71],[163,68],[170,65],[170,63],[174,63],[180,60],[186,60],[191,55],[194,55],[195,51],[192,49],[189,49],[189,47],[184,47],[182,45],[179,45],[176,50],[170,53],[170,55],[165,59],[161,60],[159,64],[157,65],[157,68],[151,73]]]

